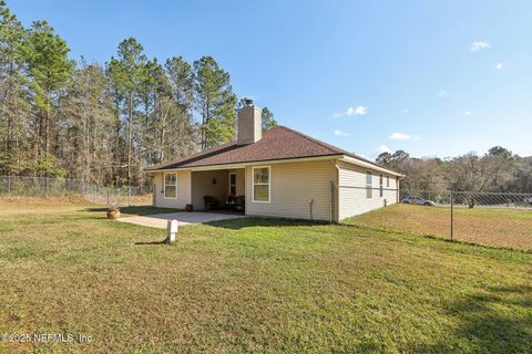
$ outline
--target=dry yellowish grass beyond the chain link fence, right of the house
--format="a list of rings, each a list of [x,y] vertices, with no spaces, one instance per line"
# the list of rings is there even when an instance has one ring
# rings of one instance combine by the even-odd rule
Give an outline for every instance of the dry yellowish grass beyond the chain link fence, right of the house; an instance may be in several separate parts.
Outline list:
[[[450,208],[397,204],[344,220],[362,227],[450,238]],[[456,240],[532,250],[532,211],[456,208]]]

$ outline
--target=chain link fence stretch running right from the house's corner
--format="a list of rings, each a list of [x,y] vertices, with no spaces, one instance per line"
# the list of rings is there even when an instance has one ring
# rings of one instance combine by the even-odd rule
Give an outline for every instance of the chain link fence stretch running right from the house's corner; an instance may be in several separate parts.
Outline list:
[[[345,222],[532,251],[532,194],[400,190],[397,204]]]

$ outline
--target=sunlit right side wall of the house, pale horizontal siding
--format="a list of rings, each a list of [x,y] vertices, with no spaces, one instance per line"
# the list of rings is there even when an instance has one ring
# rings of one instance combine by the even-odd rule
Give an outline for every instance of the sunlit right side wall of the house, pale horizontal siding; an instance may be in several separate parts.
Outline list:
[[[371,169],[369,169],[371,170]],[[397,181],[396,177],[371,170],[372,179],[372,197],[367,198],[366,195],[366,176],[367,168],[338,163],[338,210],[339,219],[342,220],[355,215],[364,214],[370,210],[381,208],[386,205],[397,202]],[[379,183],[382,174],[383,194],[380,197]],[[387,187],[386,177],[390,177],[390,187]],[[393,190],[389,190],[393,189]]]

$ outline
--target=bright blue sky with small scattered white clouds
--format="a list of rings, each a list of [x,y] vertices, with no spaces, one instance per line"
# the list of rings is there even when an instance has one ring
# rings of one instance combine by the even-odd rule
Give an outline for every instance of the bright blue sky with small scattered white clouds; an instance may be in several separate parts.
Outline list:
[[[8,0],[71,56],[213,55],[280,124],[375,158],[532,155],[532,1]]]

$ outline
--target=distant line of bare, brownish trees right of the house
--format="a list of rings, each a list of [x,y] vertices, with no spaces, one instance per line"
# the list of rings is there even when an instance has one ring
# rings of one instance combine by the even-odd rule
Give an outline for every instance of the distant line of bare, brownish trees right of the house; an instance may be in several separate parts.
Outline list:
[[[418,191],[532,194],[532,156],[495,146],[485,154],[453,158],[415,158],[403,150],[382,153],[377,164],[406,175],[401,188]]]

